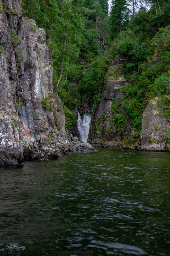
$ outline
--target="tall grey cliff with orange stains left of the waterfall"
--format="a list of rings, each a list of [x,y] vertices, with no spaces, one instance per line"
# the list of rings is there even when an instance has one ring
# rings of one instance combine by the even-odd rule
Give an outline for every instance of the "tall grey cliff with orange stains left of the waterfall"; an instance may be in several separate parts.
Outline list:
[[[0,165],[77,150],[53,94],[45,31],[22,17],[21,0],[0,3]]]

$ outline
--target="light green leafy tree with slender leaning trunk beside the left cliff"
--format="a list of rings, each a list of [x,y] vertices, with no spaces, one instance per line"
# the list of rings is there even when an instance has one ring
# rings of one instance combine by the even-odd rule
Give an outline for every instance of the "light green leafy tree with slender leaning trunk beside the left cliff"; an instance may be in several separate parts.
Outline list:
[[[79,56],[79,33],[84,27],[85,8],[81,7],[81,0],[64,0],[61,4],[60,17],[55,26],[55,37],[59,50],[60,76],[55,86],[58,87],[65,69],[66,76],[70,65],[74,64]]]

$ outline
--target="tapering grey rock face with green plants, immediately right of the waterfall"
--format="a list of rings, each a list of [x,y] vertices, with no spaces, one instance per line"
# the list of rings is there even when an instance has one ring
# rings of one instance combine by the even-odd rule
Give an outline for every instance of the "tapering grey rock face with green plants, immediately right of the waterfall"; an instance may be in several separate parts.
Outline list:
[[[88,142],[101,147],[123,147],[135,149],[139,146],[139,139],[127,141],[127,132],[130,122],[126,121],[125,129],[122,131],[116,123],[113,122],[112,102],[118,103],[124,93],[120,90],[126,86],[127,82],[122,74],[122,62],[124,58],[116,57],[109,67],[107,84],[103,93],[103,98],[97,106],[92,120],[92,130],[89,133]],[[113,75],[112,75],[113,74]],[[118,108],[118,113],[124,115],[124,102]],[[102,120],[101,120],[102,117]],[[130,136],[133,137],[134,131]]]

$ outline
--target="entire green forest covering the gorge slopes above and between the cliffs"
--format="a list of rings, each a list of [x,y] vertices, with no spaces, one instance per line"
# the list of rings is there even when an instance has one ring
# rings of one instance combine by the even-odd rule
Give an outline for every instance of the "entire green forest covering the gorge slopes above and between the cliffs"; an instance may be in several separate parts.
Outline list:
[[[136,131],[155,96],[169,121],[170,0],[112,0],[110,12],[107,0],[23,0],[22,10],[46,31],[53,90],[62,100],[67,129],[77,122],[75,107],[90,106],[94,113],[118,55],[125,57],[128,82],[121,101]],[[43,104],[50,108],[48,98]]]

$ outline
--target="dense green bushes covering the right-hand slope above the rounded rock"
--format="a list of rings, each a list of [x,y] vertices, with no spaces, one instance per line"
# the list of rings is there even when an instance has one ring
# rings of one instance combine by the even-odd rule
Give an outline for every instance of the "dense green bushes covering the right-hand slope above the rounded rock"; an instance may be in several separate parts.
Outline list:
[[[114,40],[108,59],[112,61],[117,55],[126,57],[123,73],[128,86],[121,89],[125,94],[124,112],[137,132],[141,131],[144,108],[155,96],[159,98],[157,105],[161,107],[161,114],[170,119],[169,7],[168,0],[159,1],[156,8],[154,4],[150,11],[141,8],[130,18],[122,33],[117,37],[112,35]]]

